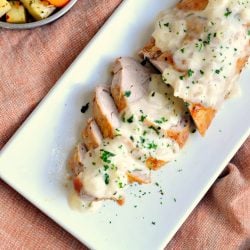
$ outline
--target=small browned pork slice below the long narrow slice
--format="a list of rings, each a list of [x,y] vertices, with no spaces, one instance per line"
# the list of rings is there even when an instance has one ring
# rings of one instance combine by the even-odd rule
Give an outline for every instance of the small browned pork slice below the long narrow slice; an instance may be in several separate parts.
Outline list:
[[[82,131],[82,138],[88,150],[99,147],[102,142],[102,133],[93,118],[90,118]]]

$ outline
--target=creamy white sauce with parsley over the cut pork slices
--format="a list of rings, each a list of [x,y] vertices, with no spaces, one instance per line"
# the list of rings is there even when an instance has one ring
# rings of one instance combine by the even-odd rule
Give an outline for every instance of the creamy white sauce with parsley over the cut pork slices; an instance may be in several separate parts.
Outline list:
[[[179,145],[165,133],[181,122],[187,110],[160,75],[152,75],[151,79],[148,94],[121,113],[117,136],[104,139],[98,148],[83,156],[81,196],[74,194],[71,203],[92,205],[89,197],[121,200],[129,185],[128,173],[150,178],[151,170],[145,164],[149,157],[165,162],[176,158]]]

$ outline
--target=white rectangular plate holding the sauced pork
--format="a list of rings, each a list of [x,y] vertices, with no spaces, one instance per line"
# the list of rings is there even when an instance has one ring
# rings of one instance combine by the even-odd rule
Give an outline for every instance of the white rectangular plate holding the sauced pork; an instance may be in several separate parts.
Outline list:
[[[63,185],[66,161],[90,115],[82,114],[81,106],[91,100],[95,85],[110,81],[114,59],[135,55],[158,12],[175,2],[123,2],[1,152],[1,178],[90,248],[163,248],[249,135],[245,71],[242,96],[225,103],[206,138],[192,135],[177,162],[153,175],[159,187],[153,182],[129,188],[123,207],[107,202],[96,214],[70,209]]]

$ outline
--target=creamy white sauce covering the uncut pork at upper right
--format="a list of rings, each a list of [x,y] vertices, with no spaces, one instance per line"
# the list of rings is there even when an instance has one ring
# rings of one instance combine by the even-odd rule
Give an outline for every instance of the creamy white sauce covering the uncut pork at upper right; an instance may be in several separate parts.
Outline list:
[[[250,1],[210,0],[203,11],[163,12],[153,37],[174,66],[163,79],[185,101],[218,109],[238,87],[237,61],[249,54]]]

